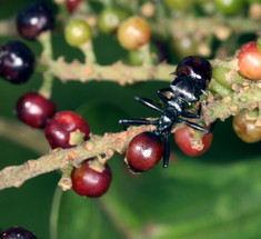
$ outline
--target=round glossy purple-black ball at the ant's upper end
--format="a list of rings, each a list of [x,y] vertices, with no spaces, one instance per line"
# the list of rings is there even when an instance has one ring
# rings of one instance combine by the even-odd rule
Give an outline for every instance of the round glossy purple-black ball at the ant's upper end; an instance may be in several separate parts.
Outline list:
[[[209,61],[199,57],[184,58],[175,69],[175,76],[184,73],[191,76],[199,83],[202,83],[202,89],[205,89],[212,76],[212,68]]]

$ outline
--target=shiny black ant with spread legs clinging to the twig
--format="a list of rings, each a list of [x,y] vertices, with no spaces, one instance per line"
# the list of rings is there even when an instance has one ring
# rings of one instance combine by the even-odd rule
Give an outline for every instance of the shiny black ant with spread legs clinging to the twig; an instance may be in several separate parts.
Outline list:
[[[152,100],[141,97],[135,97],[140,103],[159,111],[160,118],[157,120],[147,119],[122,119],[119,120],[120,125],[155,125],[157,129],[153,131],[158,137],[164,137],[164,152],[163,152],[163,167],[169,165],[170,142],[169,136],[171,129],[175,123],[184,123],[193,129],[200,130],[204,133],[210,133],[211,129],[205,129],[197,123],[185,120],[199,119],[201,114],[201,104],[197,113],[185,111],[185,103],[191,106],[193,102],[199,101],[202,93],[207,94],[207,87],[211,80],[212,70],[209,61],[198,57],[187,57],[177,67],[175,72],[171,73],[175,79],[171,82],[170,87],[157,91],[159,98],[164,103],[164,109],[161,109]],[[169,92],[168,98],[164,92]]]

